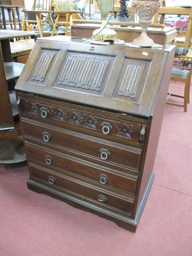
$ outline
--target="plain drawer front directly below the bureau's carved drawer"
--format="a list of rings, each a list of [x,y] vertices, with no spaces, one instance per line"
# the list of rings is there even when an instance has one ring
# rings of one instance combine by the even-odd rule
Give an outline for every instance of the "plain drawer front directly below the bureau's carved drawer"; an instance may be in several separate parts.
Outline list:
[[[24,138],[36,138],[47,144],[48,147],[61,147],[77,154],[91,157],[102,163],[111,163],[140,170],[140,148],[129,147],[86,136],[66,129],[59,129],[51,125],[23,122]]]

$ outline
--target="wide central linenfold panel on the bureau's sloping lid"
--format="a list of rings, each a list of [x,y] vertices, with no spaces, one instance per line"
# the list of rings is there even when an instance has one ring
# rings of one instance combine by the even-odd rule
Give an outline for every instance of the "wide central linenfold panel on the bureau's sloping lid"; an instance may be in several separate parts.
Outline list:
[[[58,84],[100,91],[109,63],[109,58],[70,54]]]

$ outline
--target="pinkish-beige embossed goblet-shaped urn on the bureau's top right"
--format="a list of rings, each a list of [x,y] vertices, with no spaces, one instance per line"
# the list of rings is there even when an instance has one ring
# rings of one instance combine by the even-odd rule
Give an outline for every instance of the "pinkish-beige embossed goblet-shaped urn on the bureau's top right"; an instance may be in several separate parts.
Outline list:
[[[133,0],[132,6],[135,8],[141,25],[141,35],[134,39],[132,44],[141,47],[152,47],[154,41],[148,37],[147,28],[152,23],[152,18],[161,6],[163,0]]]

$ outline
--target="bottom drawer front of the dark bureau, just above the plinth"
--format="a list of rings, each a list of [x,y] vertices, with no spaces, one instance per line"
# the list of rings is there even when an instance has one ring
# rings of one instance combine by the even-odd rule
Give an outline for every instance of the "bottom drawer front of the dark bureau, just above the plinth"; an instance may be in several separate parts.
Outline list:
[[[45,168],[33,163],[29,163],[29,173],[32,179],[49,184],[56,189],[61,189],[64,193],[72,193],[76,196],[81,196],[82,200],[90,200],[98,205],[132,214],[134,200],[128,196],[109,193],[107,190],[90,186],[67,175],[47,171]]]

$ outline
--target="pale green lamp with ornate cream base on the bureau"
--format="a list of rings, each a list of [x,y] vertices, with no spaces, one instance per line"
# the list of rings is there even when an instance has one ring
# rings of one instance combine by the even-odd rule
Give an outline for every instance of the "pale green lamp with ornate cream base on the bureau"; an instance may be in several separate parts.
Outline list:
[[[99,42],[116,40],[116,32],[108,27],[107,16],[113,8],[113,0],[96,0],[100,10],[102,24],[99,29],[93,31],[93,38]]]

